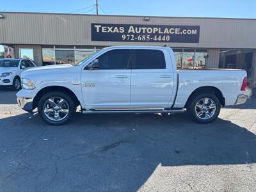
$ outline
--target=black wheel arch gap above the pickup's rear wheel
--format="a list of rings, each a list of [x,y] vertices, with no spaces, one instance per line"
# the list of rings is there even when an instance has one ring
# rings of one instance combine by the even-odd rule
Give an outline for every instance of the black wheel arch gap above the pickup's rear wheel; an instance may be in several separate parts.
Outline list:
[[[196,88],[188,97],[188,100],[185,104],[185,108],[188,105],[189,100],[196,94],[196,93],[202,93],[202,92],[207,92],[207,93],[213,93],[221,103],[221,106],[225,106],[225,97],[223,97],[223,94],[221,91],[216,88],[215,86],[200,86],[199,88]]]

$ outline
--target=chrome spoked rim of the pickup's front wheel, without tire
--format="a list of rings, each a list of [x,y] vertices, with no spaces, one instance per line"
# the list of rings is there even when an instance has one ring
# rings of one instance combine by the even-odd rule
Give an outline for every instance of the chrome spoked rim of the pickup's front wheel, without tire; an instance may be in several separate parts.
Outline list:
[[[44,114],[50,120],[59,122],[66,118],[68,112],[68,103],[61,97],[51,97],[44,102]]]

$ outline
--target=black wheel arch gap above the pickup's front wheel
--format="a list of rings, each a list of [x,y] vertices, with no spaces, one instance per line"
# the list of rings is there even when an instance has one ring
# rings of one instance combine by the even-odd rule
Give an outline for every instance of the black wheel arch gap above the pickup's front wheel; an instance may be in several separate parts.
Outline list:
[[[45,88],[42,88],[42,90],[40,90],[38,93],[36,93],[36,96],[33,99],[33,109],[37,108],[39,99],[40,97],[42,97],[42,95],[48,92],[53,92],[53,91],[67,93],[68,95],[70,95],[70,97],[72,97],[72,99],[74,99],[76,106],[80,105],[80,102],[76,97],[76,94],[72,92],[72,90],[70,90],[69,88],[65,86],[46,86]]]

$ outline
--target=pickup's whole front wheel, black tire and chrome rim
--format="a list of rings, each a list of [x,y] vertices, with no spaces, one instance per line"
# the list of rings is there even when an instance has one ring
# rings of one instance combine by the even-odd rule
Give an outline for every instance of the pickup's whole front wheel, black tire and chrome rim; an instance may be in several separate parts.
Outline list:
[[[40,117],[51,125],[67,122],[75,112],[74,101],[63,92],[45,93],[38,102]]]

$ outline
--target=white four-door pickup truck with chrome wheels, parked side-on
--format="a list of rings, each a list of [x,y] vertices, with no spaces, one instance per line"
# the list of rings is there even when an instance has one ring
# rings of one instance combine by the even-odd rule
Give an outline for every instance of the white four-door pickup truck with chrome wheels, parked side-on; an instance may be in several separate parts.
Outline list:
[[[36,67],[21,74],[19,106],[63,124],[77,106],[87,113],[182,113],[199,123],[221,106],[246,102],[244,70],[177,70],[169,47],[117,46],[72,65]]]

